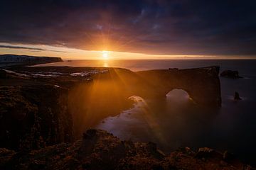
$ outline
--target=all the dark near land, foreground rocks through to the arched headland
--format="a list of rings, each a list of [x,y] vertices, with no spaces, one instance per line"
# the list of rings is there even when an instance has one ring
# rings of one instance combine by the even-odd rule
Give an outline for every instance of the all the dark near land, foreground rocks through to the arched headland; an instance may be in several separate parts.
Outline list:
[[[198,104],[219,107],[218,67],[9,67],[0,69],[0,80],[0,169],[252,169],[228,152],[183,148],[164,154],[154,143],[121,141],[102,130],[73,142],[131,106],[133,95],[185,89]]]

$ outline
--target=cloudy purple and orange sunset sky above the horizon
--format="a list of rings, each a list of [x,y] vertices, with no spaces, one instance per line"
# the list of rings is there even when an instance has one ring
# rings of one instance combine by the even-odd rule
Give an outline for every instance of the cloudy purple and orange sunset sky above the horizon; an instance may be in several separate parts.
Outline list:
[[[255,58],[256,1],[1,0],[0,54]]]

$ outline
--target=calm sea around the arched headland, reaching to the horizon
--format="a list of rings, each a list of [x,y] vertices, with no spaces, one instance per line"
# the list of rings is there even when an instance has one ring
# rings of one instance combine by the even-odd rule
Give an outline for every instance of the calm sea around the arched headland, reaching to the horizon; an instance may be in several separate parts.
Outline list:
[[[227,149],[255,165],[256,60],[84,60],[43,65],[124,67],[133,71],[219,65],[220,72],[238,70],[244,79],[220,78],[223,99],[220,109],[195,106],[182,90],[170,91],[164,101],[145,101],[133,96],[134,108],[106,118],[96,128],[108,130],[122,140],[156,142],[166,152],[178,147]],[[233,101],[235,91],[242,101]]]

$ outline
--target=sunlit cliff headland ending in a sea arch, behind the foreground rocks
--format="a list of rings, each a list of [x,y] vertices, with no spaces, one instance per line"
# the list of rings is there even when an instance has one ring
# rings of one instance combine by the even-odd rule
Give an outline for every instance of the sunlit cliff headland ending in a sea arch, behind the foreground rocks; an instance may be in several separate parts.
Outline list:
[[[11,67],[1,71],[0,147],[7,149],[70,141],[102,119],[132,107],[129,96],[163,98],[172,89],[184,89],[199,105],[221,104],[218,67],[144,72]]]

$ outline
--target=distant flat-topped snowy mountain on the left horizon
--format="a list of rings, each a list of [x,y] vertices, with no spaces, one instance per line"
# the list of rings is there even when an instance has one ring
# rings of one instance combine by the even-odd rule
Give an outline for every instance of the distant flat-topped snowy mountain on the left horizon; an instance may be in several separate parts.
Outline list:
[[[48,62],[63,62],[60,57],[35,57],[28,55],[0,55],[1,63],[41,64]]]

